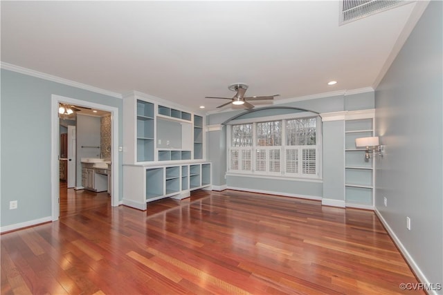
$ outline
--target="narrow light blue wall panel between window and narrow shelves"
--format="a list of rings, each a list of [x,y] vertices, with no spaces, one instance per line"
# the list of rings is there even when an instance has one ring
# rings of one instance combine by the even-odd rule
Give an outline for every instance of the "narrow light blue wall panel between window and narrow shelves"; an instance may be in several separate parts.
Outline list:
[[[345,200],[345,121],[323,122],[323,198]]]

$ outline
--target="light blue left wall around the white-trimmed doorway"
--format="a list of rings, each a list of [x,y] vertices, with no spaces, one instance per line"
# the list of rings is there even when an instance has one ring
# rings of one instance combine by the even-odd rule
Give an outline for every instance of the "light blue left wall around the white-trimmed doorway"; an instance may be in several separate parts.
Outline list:
[[[122,99],[2,69],[1,227],[51,216],[53,94],[118,108],[122,145]],[[120,196],[121,162],[119,155]],[[17,209],[9,210],[11,200],[18,200]]]

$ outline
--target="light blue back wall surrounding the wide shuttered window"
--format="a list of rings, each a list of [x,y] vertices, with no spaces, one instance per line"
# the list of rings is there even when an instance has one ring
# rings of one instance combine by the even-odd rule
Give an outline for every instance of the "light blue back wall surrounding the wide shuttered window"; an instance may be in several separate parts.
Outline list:
[[[374,93],[359,93],[354,95],[334,95],[331,97],[323,97],[318,99],[308,99],[299,102],[290,102],[287,104],[277,104],[275,105],[278,109],[266,109],[263,111],[255,111],[246,115],[238,117],[238,119],[243,119],[245,117],[257,117],[257,116],[272,116],[284,113],[296,113],[296,110],[284,110],[280,107],[289,108],[303,108],[309,111],[314,111],[317,113],[332,113],[340,111],[348,111],[346,108],[350,108],[350,111],[363,110],[368,108],[374,108]],[[245,111],[230,111],[224,113],[216,113],[208,115],[206,122],[211,124],[222,124],[233,117],[244,113]],[[330,124],[330,125],[329,125]],[[309,182],[303,180],[281,180],[275,178],[253,178],[250,176],[228,176],[226,180],[224,175],[226,173],[226,142],[223,148],[214,149],[213,145],[208,146],[209,160],[213,162],[213,171],[217,171],[217,178],[215,181],[220,182],[217,185],[227,184],[228,187],[236,187],[239,189],[249,189],[249,190],[261,190],[269,191],[273,193],[288,193],[291,195],[298,194],[300,196],[314,196],[314,197],[324,197],[331,199],[344,200],[344,121],[341,122],[329,122],[326,130],[323,130],[323,137],[327,137],[327,150],[326,155],[323,155],[323,181],[326,182],[326,189],[322,182]],[[340,126],[335,126],[339,124]],[[323,124],[325,126],[325,124]],[[328,126],[331,126],[329,128]],[[215,132],[209,133],[209,136]],[[219,135],[215,135],[219,136]],[[213,137],[210,137],[211,139]],[[340,140],[341,139],[341,140]],[[226,137],[225,137],[226,140]],[[342,146],[338,146],[340,144]],[[330,149],[329,149],[330,147]],[[324,151],[325,152],[325,151]],[[337,156],[341,154],[341,156]],[[325,162],[325,157],[334,156],[333,159],[327,159]],[[223,160],[223,162],[220,161]],[[339,171],[339,175],[337,175]],[[342,178],[340,178],[340,175]],[[327,178],[325,180],[325,177]],[[339,182],[338,182],[339,181]],[[341,190],[339,189],[341,187]],[[329,192],[329,190],[331,190]],[[341,196],[341,197],[340,197]]]

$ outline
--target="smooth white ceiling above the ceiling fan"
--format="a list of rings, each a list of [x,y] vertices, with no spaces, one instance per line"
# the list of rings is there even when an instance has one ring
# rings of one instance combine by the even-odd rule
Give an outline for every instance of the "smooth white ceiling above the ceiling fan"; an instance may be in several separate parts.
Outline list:
[[[278,99],[377,86],[415,6],[338,26],[338,1],[1,1],[1,61],[211,111],[235,82]]]

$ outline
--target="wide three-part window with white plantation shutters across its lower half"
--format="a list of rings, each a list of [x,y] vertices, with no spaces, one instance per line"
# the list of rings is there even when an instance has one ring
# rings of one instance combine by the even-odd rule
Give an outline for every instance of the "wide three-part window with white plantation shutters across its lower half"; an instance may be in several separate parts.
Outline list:
[[[289,117],[231,126],[230,172],[319,178],[318,118]]]

